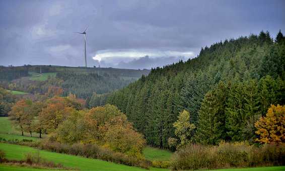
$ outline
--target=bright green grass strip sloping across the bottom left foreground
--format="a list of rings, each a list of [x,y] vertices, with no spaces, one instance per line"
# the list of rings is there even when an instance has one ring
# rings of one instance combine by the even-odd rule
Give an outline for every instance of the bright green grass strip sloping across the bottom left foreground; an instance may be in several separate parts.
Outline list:
[[[13,145],[13,144],[5,144],[5,143],[0,143],[0,149],[6,153],[6,158],[15,159],[15,160],[23,159],[25,153],[37,151],[37,149],[31,148],[31,147]],[[40,155],[43,158],[46,158],[47,160],[61,163],[66,167],[79,168],[80,170],[102,170],[102,171],[104,170],[106,171],[145,170],[139,167],[131,167],[127,165],[116,164],[116,163],[98,160],[98,159],[49,152],[45,150],[40,150]],[[0,169],[1,169],[1,165],[0,165]],[[163,170],[163,169],[152,168],[151,170]]]

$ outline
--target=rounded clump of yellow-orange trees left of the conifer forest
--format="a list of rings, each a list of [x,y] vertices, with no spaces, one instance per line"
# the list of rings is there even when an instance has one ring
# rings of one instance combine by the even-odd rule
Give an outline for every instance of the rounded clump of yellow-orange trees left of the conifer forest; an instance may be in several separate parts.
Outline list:
[[[145,146],[142,135],[134,130],[125,114],[113,105],[72,111],[56,130],[61,143],[96,143],[130,156],[141,157]]]

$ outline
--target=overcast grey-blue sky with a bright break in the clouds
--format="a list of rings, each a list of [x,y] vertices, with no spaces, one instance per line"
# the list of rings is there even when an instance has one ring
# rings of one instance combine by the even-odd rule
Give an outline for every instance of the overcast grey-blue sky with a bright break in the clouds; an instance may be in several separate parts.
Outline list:
[[[285,1],[0,1],[0,65],[151,68],[221,40],[285,32]],[[145,57],[148,55],[147,57]]]

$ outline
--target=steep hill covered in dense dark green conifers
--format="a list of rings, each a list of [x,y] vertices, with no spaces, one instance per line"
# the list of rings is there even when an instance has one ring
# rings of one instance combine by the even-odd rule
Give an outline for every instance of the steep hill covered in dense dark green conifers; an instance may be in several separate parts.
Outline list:
[[[173,124],[183,110],[194,125],[183,137],[188,142],[254,142],[254,123],[271,104],[284,105],[284,64],[282,33],[273,40],[262,31],[204,47],[186,62],[152,69],[112,93],[107,103],[125,113],[150,145],[179,143]]]

